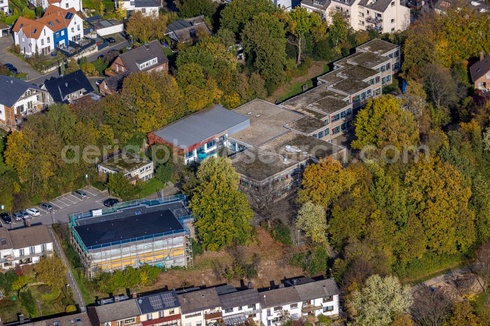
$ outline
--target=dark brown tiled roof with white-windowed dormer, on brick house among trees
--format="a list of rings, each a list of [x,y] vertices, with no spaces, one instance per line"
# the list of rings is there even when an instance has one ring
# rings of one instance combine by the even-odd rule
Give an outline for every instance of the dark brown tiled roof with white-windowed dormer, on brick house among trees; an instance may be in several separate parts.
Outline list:
[[[144,58],[157,58],[157,65],[169,62],[169,59],[163,53],[162,48],[158,41],[153,41],[147,45],[141,47],[133,48],[119,56],[123,61],[124,67],[130,72],[140,72],[147,71],[155,68],[155,65],[149,66],[143,70],[137,65],[137,62],[142,61]]]

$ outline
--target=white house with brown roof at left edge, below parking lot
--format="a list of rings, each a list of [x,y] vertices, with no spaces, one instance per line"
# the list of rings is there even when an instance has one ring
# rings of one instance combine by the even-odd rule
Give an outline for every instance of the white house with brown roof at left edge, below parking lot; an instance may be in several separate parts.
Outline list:
[[[16,230],[0,228],[0,269],[35,264],[53,251],[51,234],[46,225]]]

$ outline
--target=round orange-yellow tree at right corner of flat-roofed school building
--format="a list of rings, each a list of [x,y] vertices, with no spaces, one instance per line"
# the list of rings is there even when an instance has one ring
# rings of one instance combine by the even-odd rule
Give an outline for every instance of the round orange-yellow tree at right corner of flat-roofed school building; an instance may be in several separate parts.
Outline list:
[[[355,183],[352,171],[331,157],[318,164],[308,165],[303,174],[303,189],[298,191],[299,201],[311,201],[328,209],[329,205]]]

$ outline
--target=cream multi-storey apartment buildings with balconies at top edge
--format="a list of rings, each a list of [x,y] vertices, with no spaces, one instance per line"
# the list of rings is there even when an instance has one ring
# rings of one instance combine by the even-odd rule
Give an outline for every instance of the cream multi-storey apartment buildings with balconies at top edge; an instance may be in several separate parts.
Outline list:
[[[410,9],[400,0],[302,0],[301,7],[325,20],[340,12],[354,30],[392,33],[410,25]]]

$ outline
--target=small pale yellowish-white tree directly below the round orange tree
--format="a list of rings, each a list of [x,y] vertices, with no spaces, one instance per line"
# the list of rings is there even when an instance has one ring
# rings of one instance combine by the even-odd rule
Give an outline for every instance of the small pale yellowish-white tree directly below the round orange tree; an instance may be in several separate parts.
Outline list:
[[[318,244],[327,243],[327,221],[325,209],[308,201],[298,211],[296,228]]]

